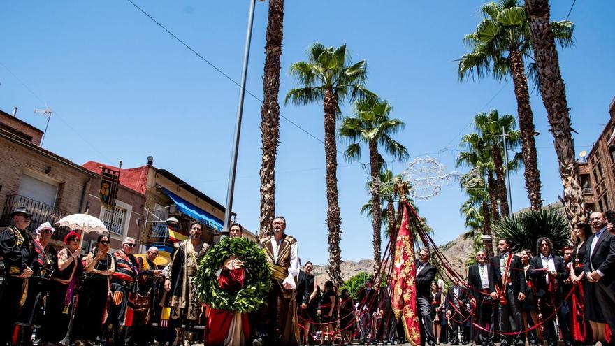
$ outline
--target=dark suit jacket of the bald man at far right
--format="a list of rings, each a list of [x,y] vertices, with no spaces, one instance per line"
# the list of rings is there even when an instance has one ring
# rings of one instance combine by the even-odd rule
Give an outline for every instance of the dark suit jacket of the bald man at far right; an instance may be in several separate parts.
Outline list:
[[[615,237],[607,230],[602,232],[592,253],[591,243],[593,242],[593,238],[595,238],[595,234],[589,237],[585,242],[587,256],[583,263],[583,270],[586,273],[591,272],[591,266],[589,264],[591,254],[591,263],[594,269],[600,269],[602,274],[605,275],[600,281],[604,282],[607,287],[615,289]]]

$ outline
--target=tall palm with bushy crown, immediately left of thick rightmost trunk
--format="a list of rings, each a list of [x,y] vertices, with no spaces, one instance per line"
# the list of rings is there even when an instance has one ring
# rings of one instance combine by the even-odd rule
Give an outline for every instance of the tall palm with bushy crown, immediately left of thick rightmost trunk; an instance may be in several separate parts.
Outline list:
[[[542,206],[541,183],[524,62],[524,59],[533,59],[528,17],[517,0],[486,3],[481,7],[481,12],[484,19],[478,24],[476,31],[463,39],[472,52],[463,55],[459,60],[459,79],[465,80],[468,76],[473,78],[475,75],[478,79],[485,75],[493,75],[498,80],[512,78],[526,167],[526,190],[531,207],[537,210]],[[572,44],[572,23],[553,22],[551,27],[562,45]],[[533,71],[535,72],[535,66],[530,64],[530,77],[534,77]]]

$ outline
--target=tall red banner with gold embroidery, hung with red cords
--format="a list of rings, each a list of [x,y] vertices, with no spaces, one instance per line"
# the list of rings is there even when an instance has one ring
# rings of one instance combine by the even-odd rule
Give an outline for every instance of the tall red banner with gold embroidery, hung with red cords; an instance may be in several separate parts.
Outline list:
[[[408,217],[410,205],[400,201],[403,218],[397,233],[395,244],[395,262],[393,263],[393,312],[396,319],[401,318],[406,340],[412,346],[421,345],[421,329],[417,315],[417,287],[414,286],[414,235],[410,231],[412,222]]]

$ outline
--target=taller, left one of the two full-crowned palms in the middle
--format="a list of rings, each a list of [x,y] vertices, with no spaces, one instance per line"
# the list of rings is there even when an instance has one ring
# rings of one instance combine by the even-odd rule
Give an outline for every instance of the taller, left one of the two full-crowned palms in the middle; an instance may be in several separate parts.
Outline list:
[[[366,96],[376,97],[363,85],[367,81],[367,62],[361,60],[352,64],[346,45],[326,48],[314,43],[307,51],[307,62],[295,62],[290,74],[300,84],[291,89],[284,103],[295,105],[312,102],[323,103],[324,108],[324,152],[326,157],[326,198],[328,228],[329,265],[328,274],[336,283],[342,283],[340,275],[340,203],[338,201],[338,149],[335,143],[335,119],[340,115],[340,104]]]

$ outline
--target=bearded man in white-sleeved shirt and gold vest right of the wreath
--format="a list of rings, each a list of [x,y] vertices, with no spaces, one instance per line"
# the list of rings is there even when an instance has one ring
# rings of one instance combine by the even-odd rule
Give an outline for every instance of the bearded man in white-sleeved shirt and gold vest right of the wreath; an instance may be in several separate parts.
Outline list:
[[[253,345],[298,345],[299,328],[295,302],[299,273],[297,240],[287,234],[286,219],[273,219],[273,235],[261,239],[267,261],[271,264],[272,287],[267,305],[261,310],[263,325]]]

